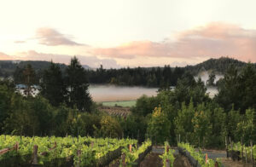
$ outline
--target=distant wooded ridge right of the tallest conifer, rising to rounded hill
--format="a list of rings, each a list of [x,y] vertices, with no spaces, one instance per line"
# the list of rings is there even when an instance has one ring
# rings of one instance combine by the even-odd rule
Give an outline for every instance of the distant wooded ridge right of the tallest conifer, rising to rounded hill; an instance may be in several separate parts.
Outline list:
[[[206,60],[195,66],[171,67],[150,67],[150,68],[121,68],[121,69],[103,69],[101,66],[96,70],[88,70],[88,79],[90,83],[111,83],[128,86],[148,86],[160,89],[166,89],[177,85],[177,79],[184,73],[189,72],[197,75],[201,71],[212,71],[210,77],[215,78],[214,73],[224,73],[230,65],[237,67],[240,71],[247,63],[239,60],[221,57],[219,59]],[[253,66],[256,66],[253,64]],[[212,80],[208,85],[213,85]]]

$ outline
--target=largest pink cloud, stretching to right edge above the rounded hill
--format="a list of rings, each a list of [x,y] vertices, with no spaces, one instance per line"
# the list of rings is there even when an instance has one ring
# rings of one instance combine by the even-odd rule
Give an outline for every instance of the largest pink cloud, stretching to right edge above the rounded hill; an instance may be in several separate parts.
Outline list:
[[[162,57],[198,59],[229,55],[239,60],[256,61],[256,30],[213,22],[207,26],[180,32],[176,38],[161,42],[134,41],[113,48],[96,48],[92,55],[119,59]]]

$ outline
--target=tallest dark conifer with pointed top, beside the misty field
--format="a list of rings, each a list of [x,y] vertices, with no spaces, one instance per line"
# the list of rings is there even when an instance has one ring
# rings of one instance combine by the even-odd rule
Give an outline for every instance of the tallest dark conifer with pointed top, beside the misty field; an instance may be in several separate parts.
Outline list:
[[[87,81],[86,72],[76,57],[67,66],[67,105],[69,107],[77,107],[80,111],[90,112],[92,104],[88,91],[89,83]]]

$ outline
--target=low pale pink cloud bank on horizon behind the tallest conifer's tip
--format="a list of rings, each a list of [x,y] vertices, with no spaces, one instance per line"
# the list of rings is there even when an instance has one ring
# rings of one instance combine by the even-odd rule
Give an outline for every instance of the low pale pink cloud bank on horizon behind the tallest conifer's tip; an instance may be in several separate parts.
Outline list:
[[[56,55],[38,53],[35,50],[29,50],[27,52],[20,52],[15,55],[16,60],[53,60],[58,63],[69,64],[73,55]],[[87,65],[93,68],[103,66],[104,68],[119,68],[115,60],[112,59],[99,59],[96,56],[76,55],[82,65]]]

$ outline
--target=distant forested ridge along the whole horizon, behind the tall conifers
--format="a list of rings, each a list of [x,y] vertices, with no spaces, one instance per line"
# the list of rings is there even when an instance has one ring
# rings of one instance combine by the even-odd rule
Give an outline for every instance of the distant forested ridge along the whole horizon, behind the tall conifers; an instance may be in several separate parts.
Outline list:
[[[30,64],[36,72],[37,81],[43,78],[44,70],[50,66],[47,61],[20,61],[13,63],[12,61],[0,61],[0,76],[7,78],[13,76],[16,83],[20,81],[20,73],[22,69]],[[183,73],[190,72],[197,75],[201,71],[212,71],[213,73],[224,73],[227,68],[233,64],[241,70],[247,63],[239,60],[230,59],[228,57],[221,57],[219,59],[206,60],[195,66],[185,67],[136,67],[136,68],[120,68],[120,69],[104,69],[103,66],[96,69],[86,69],[89,83],[110,83],[116,85],[126,86],[148,86],[155,88],[167,88],[176,86],[177,79],[181,78]],[[64,64],[57,64],[61,68],[62,75],[66,75],[67,66]],[[255,66],[255,64],[253,64]],[[210,83],[211,85],[212,83]]]

